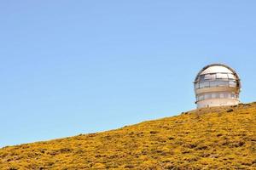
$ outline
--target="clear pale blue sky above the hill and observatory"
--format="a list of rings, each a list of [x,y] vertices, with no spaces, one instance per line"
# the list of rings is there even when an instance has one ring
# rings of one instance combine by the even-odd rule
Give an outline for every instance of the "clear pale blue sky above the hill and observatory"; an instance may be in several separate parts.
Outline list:
[[[0,146],[195,109],[205,65],[256,100],[256,1],[1,1]]]

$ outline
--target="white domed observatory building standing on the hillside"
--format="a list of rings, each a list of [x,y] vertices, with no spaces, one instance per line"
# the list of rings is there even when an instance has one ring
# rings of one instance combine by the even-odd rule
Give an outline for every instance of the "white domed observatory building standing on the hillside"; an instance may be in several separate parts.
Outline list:
[[[195,77],[194,85],[197,108],[240,103],[240,78],[228,65],[205,66]]]

